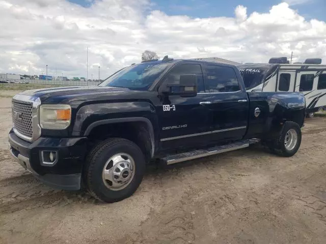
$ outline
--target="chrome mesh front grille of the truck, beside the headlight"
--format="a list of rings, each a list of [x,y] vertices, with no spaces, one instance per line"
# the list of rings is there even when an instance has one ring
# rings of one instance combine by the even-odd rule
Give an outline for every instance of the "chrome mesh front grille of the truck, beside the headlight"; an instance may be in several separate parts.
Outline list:
[[[22,135],[32,138],[32,104],[12,102],[12,120],[14,128]]]

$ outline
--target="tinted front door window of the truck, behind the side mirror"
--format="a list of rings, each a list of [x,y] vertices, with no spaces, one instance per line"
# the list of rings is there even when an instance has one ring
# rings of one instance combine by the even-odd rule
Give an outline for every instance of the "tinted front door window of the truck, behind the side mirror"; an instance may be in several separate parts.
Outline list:
[[[184,64],[178,65],[170,71],[165,84],[179,84],[180,75],[193,75],[197,77],[197,91],[198,93],[205,93],[203,73],[200,65]]]

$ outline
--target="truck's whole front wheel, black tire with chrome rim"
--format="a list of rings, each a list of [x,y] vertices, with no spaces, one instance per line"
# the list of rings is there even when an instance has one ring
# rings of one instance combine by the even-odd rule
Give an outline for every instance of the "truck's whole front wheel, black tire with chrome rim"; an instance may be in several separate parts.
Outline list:
[[[121,201],[137,190],[145,167],[145,157],[136,144],[111,138],[98,143],[88,155],[84,168],[85,185],[98,200]]]

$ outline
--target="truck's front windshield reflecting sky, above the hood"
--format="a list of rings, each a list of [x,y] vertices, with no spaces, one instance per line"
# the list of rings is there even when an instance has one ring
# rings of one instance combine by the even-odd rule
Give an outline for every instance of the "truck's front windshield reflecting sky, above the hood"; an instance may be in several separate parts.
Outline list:
[[[99,86],[126,87],[147,90],[169,66],[169,63],[140,64],[126,67],[108,77]]]

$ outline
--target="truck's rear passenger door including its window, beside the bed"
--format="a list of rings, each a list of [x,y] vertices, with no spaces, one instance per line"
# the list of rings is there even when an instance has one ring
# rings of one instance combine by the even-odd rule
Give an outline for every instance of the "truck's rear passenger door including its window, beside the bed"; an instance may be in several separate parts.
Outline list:
[[[206,90],[209,91],[211,140],[238,140],[247,131],[249,101],[239,72],[222,64],[204,66]]]

